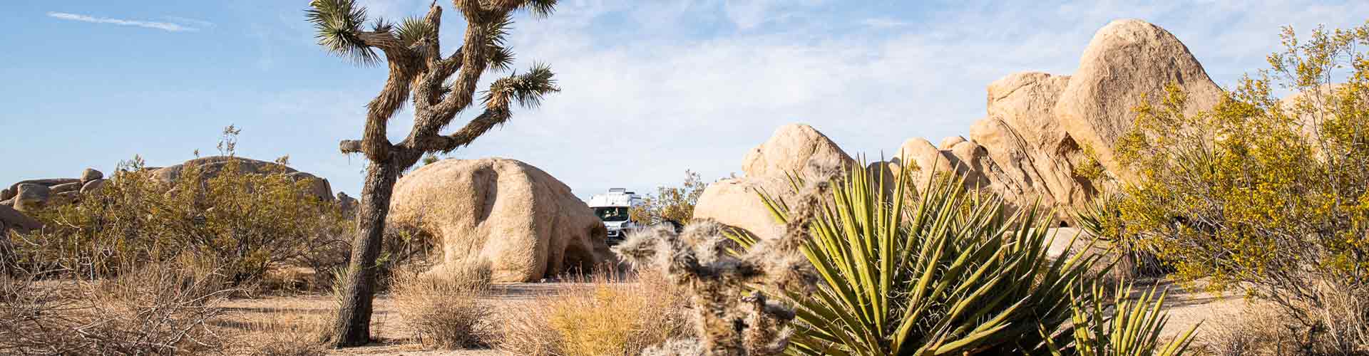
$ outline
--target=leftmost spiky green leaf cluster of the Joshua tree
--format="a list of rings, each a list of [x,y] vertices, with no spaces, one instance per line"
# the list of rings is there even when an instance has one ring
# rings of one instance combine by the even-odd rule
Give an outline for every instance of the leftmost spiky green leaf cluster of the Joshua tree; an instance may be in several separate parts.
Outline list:
[[[359,64],[379,62],[375,49],[367,47],[359,36],[366,23],[366,7],[356,5],[356,0],[314,0],[304,10],[304,16],[314,23],[318,31],[314,37],[329,52]]]

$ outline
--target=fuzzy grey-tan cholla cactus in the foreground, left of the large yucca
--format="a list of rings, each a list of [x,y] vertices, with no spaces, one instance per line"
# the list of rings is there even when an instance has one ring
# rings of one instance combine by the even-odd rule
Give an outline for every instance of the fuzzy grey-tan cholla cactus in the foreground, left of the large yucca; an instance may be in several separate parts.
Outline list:
[[[634,234],[615,248],[623,259],[661,270],[667,278],[690,292],[698,348],[684,341],[654,351],[654,355],[780,355],[789,346],[794,319],[790,305],[768,300],[756,290],[805,290],[816,277],[801,246],[808,223],[819,207],[827,181],[809,185],[798,199],[795,218],[784,234],[763,238],[745,252],[737,252],[721,225],[694,222],[676,234],[657,227]]]

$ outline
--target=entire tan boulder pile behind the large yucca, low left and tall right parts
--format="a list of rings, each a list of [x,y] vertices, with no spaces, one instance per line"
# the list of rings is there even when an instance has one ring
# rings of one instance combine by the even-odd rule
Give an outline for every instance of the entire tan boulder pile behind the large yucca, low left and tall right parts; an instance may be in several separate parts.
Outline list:
[[[1169,84],[1187,93],[1188,114],[1210,110],[1224,94],[1173,34],[1144,21],[1113,21],[1094,34],[1072,75],[1017,73],[990,84],[987,115],[969,127],[969,138],[947,137],[939,145],[909,138],[894,159],[876,164],[895,171],[914,166],[917,182],[956,171],[968,188],[1003,196],[1009,208],[1039,201],[1068,223],[1072,211],[1102,189],[1077,174],[1082,164],[1097,162],[1108,175],[1132,179],[1117,163],[1113,147],[1132,129],[1132,108],[1142,96],[1164,97]],[[787,156],[778,159],[771,152]],[[812,127],[780,127],[747,153],[742,164],[746,177],[709,185],[694,214],[767,234],[779,225],[756,192],[789,192],[787,181],[776,174],[799,171],[813,159],[850,157]]]

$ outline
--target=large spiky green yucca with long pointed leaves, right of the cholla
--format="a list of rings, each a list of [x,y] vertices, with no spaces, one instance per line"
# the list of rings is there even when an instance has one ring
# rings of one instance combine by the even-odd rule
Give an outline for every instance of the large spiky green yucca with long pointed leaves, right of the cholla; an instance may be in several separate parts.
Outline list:
[[[1047,256],[1050,214],[1035,207],[1005,215],[999,197],[960,179],[928,183],[914,200],[910,175],[888,182],[853,168],[832,182],[802,246],[821,278],[810,294],[784,296],[799,325],[789,352],[1006,355],[1045,352],[1051,337],[1068,344],[1068,330],[1061,330],[1098,257]],[[786,201],[761,197],[790,219]]]

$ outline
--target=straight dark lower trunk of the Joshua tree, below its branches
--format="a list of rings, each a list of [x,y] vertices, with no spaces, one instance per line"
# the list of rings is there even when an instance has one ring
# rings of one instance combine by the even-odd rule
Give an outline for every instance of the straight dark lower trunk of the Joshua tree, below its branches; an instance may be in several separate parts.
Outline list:
[[[361,209],[356,216],[357,237],[352,241],[344,294],[338,301],[333,335],[338,346],[366,345],[371,340],[371,300],[375,296],[375,259],[381,256],[385,218],[390,214],[390,194],[400,168],[374,163],[366,170]]]

